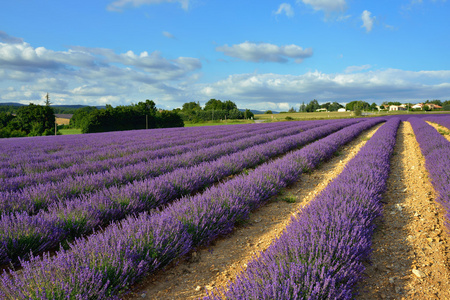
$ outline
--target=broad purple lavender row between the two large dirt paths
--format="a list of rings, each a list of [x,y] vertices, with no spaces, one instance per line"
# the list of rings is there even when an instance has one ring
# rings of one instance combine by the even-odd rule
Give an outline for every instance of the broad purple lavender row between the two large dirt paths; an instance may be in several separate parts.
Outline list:
[[[398,125],[383,125],[234,283],[205,299],[352,299],[382,212]]]

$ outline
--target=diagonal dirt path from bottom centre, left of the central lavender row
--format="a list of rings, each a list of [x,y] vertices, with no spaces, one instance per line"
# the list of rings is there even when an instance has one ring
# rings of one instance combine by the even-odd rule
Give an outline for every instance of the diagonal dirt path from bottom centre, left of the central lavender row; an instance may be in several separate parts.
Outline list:
[[[291,215],[324,189],[380,126],[342,147],[311,174],[302,175],[299,182],[252,213],[249,221],[232,234],[147,277],[123,299],[197,299],[205,296],[206,290],[224,287],[254,255],[267,249]]]

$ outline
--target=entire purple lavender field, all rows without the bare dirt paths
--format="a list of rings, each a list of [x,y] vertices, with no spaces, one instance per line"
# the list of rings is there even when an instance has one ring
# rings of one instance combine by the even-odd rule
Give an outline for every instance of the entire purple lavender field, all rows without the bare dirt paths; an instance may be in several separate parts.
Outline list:
[[[130,297],[144,278],[232,235],[286,187],[380,126],[279,238],[206,296],[352,299],[383,217],[403,123],[414,129],[449,218],[450,143],[426,121],[449,126],[447,116],[402,116],[2,141],[0,296]]]

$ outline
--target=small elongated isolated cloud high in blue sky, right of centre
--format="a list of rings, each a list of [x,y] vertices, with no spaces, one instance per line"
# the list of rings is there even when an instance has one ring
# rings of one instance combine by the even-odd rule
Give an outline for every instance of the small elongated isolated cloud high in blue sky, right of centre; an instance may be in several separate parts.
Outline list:
[[[289,58],[300,63],[304,58],[313,54],[311,48],[303,49],[297,45],[277,46],[268,43],[244,42],[233,46],[220,46],[216,51],[223,52],[227,56],[236,57],[253,62],[287,62]]]

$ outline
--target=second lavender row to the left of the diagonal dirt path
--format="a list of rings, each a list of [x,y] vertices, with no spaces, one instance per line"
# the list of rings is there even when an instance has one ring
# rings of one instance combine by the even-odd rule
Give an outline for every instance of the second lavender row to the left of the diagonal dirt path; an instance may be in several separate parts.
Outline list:
[[[36,254],[49,250],[110,221],[195,193],[356,122],[348,120],[323,125],[121,188],[111,187],[72,200],[50,203],[47,211],[41,210],[36,215],[29,215],[29,211],[3,215],[0,219],[0,263],[15,262],[30,251]],[[23,206],[27,205],[24,203]]]

